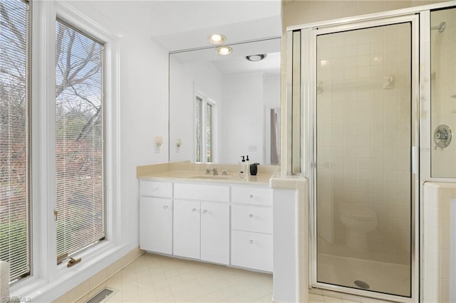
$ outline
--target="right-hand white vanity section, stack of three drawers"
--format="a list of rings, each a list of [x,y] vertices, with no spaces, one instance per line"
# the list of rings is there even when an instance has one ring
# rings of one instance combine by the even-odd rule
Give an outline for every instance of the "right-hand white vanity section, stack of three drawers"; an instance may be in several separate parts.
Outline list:
[[[231,188],[231,264],[272,272],[272,190]]]

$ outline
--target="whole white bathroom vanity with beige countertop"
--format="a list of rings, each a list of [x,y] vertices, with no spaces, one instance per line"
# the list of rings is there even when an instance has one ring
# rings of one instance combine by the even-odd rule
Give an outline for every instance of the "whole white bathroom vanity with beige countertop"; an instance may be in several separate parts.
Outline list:
[[[140,248],[176,257],[272,272],[273,189],[278,166],[242,179],[236,165],[138,167]]]

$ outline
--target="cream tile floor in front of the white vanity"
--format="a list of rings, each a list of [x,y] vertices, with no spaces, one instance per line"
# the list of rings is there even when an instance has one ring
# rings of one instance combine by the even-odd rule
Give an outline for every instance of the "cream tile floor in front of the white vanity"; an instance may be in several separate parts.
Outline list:
[[[272,275],[149,253],[105,286],[107,302],[272,302]]]

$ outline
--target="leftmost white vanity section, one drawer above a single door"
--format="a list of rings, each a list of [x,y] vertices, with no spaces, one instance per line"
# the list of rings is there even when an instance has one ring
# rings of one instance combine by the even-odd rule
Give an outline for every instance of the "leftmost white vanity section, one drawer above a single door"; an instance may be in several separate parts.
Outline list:
[[[172,183],[140,181],[140,248],[172,254]]]

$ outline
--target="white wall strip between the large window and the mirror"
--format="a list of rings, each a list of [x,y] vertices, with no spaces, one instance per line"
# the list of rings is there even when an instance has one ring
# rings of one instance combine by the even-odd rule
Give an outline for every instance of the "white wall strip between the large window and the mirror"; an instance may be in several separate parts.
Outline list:
[[[136,166],[167,162],[167,52],[145,36],[120,39],[120,193],[130,247],[138,242]],[[155,152],[155,137],[164,138]]]

